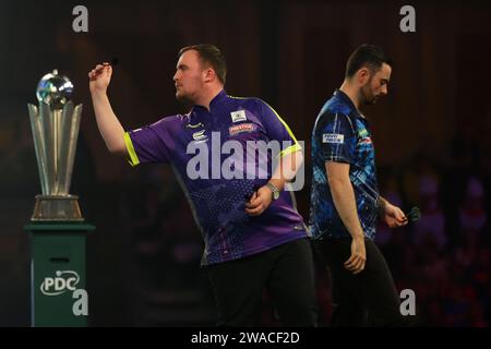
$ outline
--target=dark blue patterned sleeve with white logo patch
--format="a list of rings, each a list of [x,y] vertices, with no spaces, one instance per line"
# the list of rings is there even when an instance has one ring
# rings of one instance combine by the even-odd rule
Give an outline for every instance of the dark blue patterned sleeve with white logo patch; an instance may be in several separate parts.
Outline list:
[[[344,113],[325,115],[318,132],[324,161],[352,164],[357,137],[351,119]]]

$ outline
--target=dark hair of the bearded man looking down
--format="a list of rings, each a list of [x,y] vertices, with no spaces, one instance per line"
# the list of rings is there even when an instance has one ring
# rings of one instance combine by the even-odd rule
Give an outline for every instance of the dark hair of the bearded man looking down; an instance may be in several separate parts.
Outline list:
[[[392,67],[392,60],[385,56],[380,47],[363,44],[349,56],[345,77],[352,77],[362,67],[367,67],[371,73],[375,73],[380,70],[382,63]]]

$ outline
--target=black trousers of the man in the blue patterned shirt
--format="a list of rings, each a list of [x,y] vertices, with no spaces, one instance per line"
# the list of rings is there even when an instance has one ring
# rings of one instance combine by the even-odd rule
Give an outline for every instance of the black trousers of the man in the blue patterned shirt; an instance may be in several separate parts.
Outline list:
[[[315,242],[331,269],[333,281],[332,326],[406,326],[400,299],[391,270],[376,244],[366,239],[363,272],[354,275],[344,267],[351,255],[351,239]]]

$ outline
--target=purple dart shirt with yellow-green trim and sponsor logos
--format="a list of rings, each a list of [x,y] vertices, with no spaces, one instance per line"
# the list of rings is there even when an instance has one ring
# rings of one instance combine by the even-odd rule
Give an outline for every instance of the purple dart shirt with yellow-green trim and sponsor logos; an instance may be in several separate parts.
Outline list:
[[[246,198],[271,178],[273,159],[300,149],[288,125],[261,99],[230,97],[221,91],[209,111],[194,106],[188,115],[130,131],[124,141],[131,165],[172,166],[205,242],[202,265],[242,258],[308,236],[292,192],[282,191],[260,216],[244,210]],[[277,141],[279,149],[253,157],[248,146],[254,141]]]

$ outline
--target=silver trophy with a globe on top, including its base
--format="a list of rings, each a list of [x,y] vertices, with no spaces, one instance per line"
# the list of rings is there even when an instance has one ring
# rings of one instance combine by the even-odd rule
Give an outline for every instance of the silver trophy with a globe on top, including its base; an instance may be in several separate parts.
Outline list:
[[[82,105],[73,106],[73,84],[58,71],[39,81],[39,106],[28,104],[41,194],[36,195],[32,221],[83,221],[79,196],[70,195]]]

